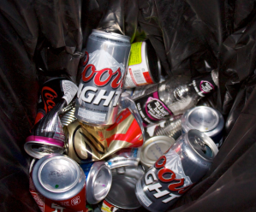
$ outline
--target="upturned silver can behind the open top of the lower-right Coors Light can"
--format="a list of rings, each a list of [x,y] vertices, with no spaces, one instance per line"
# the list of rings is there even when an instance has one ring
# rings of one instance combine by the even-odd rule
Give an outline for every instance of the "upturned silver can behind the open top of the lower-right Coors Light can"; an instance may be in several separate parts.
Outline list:
[[[197,129],[200,132],[205,132],[217,147],[223,143],[223,115],[206,106],[199,106],[193,109],[188,109],[182,116],[182,132],[188,132],[191,129]]]

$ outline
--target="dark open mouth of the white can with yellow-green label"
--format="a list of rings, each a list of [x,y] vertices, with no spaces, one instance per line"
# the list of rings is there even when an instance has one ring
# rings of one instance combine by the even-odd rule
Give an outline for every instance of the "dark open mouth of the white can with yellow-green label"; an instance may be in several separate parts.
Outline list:
[[[158,56],[156,53],[156,50],[152,46],[150,41],[146,41],[146,53],[147,53],[147,61],[148,61],[148,66],[150,70],[150,74],[152,77],[152,81],[154,83],[158,83],[160,80],[159,76],[159,64],[158,64]]]

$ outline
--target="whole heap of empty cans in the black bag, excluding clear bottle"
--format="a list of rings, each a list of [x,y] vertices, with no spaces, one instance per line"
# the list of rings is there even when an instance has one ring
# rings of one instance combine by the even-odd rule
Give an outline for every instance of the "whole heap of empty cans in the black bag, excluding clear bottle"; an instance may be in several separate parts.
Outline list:
[[[133,89],[122,86],[158,83],[161,68],[149,43],[130,49],[127,36],[94,30],[80,85],[63,78],[43,85],[24,146],[42,212],[165,211],[211,167],[223,116],[198,106],[143,127]]]

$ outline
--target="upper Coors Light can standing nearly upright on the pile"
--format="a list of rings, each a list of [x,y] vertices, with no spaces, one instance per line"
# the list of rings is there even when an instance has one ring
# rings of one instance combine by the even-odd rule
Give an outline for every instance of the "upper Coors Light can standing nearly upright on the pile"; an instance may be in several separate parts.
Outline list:
[[[92,30],[77,93],[79,121],[101,126],[115,123],[130,48],[128,36]]]

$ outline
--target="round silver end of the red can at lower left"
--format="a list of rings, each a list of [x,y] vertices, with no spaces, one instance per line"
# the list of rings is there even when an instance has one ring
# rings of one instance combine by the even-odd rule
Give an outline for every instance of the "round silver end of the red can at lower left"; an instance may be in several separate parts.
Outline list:
[[[62,200],[69,195],[74,197],[83,187],[85,177],[82,178],[80,167],[74,160],[68,156],[51,154],[34,165],[33,183],[43,196]]]

